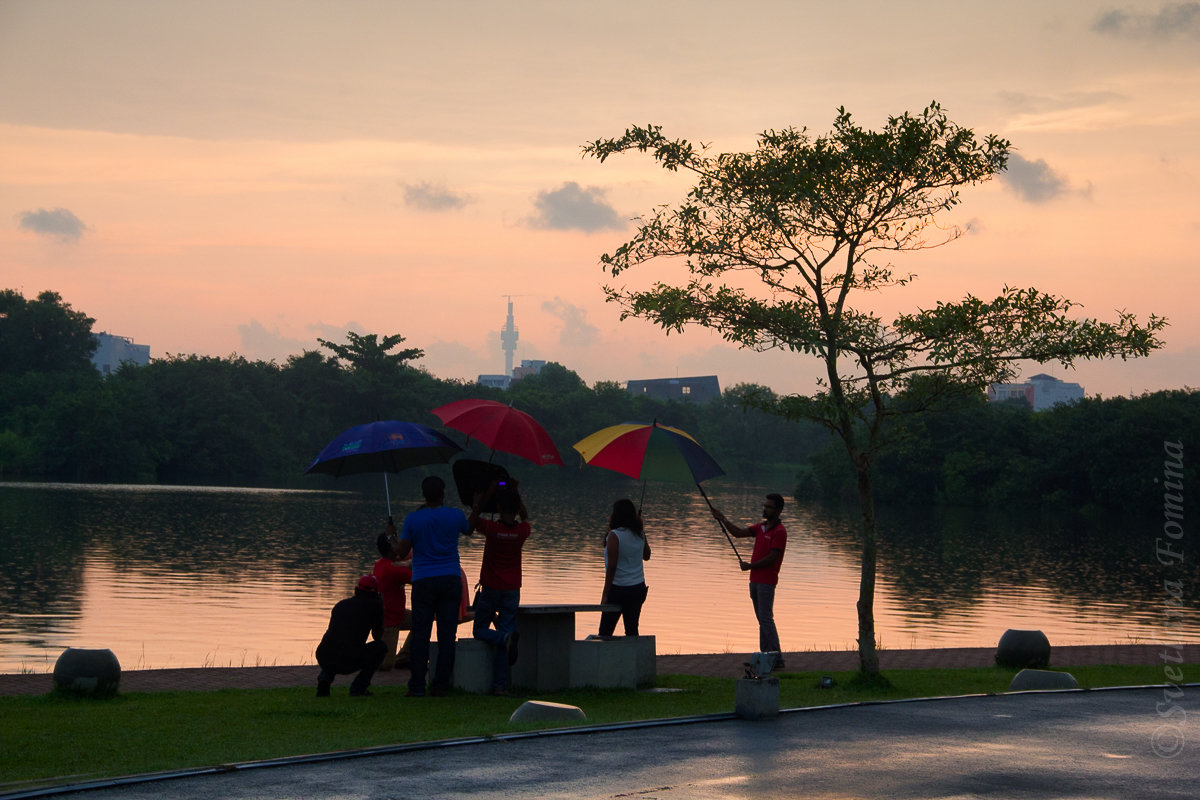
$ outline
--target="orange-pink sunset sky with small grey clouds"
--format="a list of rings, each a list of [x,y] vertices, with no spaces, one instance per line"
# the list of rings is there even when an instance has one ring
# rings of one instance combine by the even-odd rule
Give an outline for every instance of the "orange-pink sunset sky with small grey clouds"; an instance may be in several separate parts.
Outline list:
[[[353,330],[472,379],[503,372],[511,295],[517,360],[589,384],[810,392],[811,357],[618,320],[600,255],[688,184],[581,148],[653,122],[746,150],[934,100],[1015,157],[881,313],[1006,283],[1157,313],[1147,360],[1025,374],[1200,386],[1200,2],[0,0],[0,288],[154,357],[282,362]]]

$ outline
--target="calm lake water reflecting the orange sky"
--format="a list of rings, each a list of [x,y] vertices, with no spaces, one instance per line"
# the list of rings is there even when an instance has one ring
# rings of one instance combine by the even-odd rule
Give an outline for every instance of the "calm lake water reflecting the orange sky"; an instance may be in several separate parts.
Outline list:
[[[533,470],[530,470],[533,471]],[[420,475],[391,477],[397,519],[418,505]],[[523,602],[599,602],[608,509],[638,499],[623,479],[526,481],[534,536]],[[332,486],[332,483],[325,483]],[[67,646],[109,648],[126,669],[313,663],[330,607],[376,560],[382,481],[352,491],[0,483],[0,672],[47,672]],[[731,518],[757,519],[786,491],[706,485]],[[1051,644],[1200,639],[1192,559],[1170,575],[1142,523],[881,510],[876,626],[884,648],[995,646],[1006,628]],[[642,632],[660,654],[757,649],[746,589],[728,542],[695,487],[650,485],[654,558]],[[856,646],[853,517],[790,504],[775,616],[787,650]],[[738,542],[749,555],[750,542]],[[464,540],[479,575],[482,543]],[[1183,579],[1182,628],[1164,578]],[[581,614],[578,634],[598,618]],[[467,628],[461,628],[467,632]],[[468,633],[469,634],[469,633]]]

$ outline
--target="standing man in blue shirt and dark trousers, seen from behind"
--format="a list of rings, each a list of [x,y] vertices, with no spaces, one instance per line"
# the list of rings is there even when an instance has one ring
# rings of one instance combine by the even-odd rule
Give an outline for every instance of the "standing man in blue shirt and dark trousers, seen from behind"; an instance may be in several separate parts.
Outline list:
[[[462,566],[458,537],[470,534],[467,515],[443,505],[445,481],[431,475],[421,481],[425,505],[404,517],[397,543],[397,558],[413,554],[413,644],[408,697],[425,697],[430,636],[438,626],[438,662],[430,693],[444,696],[454,681],[455,633],[462,603]]]

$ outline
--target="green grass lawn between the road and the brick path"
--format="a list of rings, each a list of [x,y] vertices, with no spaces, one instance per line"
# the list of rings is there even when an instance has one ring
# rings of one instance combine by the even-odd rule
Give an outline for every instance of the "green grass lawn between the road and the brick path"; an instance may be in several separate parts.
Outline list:
[[[1190,666],[1181,667],[1194,674]],[[1080,686],[1164,682],[1162,666],[1074,667]],[[833,688],[818,688],[822,673],[782,673],[781,708],[839,703],[997,693],[1015,670],[892,670],[890,690],[851,685],[854,673],[832,674]],[[553,694],[406,698],[403,686],[374,687],[374,697],[344,692],[318,699],[311,687],[154,692],[108,699],[59,693],[0,697],[0,793],[54,783],[211,766],[306,753],[322,753],[437,739],[487,736],[535,729],[509,716],[526,699],[577,705],[604,724],[733,711],[736,681],[728,678],[660,675],[658,686],[678,692],[571,690]],[[550,726],[541,726],[550,727]],[[562,727],[560,723],[552,727]]]

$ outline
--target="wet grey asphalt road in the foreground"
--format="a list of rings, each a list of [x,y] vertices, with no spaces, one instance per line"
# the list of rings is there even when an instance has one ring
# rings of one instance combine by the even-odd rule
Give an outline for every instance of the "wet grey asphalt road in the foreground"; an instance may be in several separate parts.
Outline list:
[[[1183,692],[1168,717],[1163,688],[954,698],[486,741],[70,796],[1194,800],[1200,687]]]

